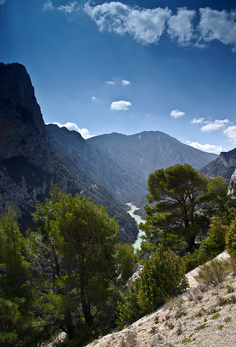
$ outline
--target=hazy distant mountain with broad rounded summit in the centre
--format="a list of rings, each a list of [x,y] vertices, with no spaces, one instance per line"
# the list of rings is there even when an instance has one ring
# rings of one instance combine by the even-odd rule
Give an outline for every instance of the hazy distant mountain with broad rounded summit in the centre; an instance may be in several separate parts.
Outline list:
[[[194,149],[160,131],[143,131],[135,135],[105,134],[91,137],[86,142],[107,151],[129,176],[140,183],[140,187],[147,187],[149,174],[156,169],[185,163],[200,169],[217,158],[216,154]]]

